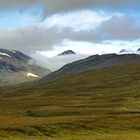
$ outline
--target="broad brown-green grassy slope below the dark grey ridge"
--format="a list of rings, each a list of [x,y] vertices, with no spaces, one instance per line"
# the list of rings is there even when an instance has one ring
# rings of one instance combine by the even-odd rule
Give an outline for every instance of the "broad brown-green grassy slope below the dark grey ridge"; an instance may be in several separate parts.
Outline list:
[[[139,139],[139,87],[140,63],[3,87],[0,136]]]

